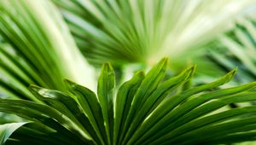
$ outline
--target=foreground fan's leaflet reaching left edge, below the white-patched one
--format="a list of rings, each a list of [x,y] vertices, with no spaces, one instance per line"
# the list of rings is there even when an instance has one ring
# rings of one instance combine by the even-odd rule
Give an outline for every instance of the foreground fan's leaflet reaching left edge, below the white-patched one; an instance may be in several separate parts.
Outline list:
[[[1,99],[0,111],[15,113],[24,119],[46,125],[54,131],[61,132],[62,136],[72,138],[76,143],[91,143],[88,136],[84,136],[84,132],[81,132],[72,120],[53,107],[35,102]],[[39,127],[41,127],[40,124]]]

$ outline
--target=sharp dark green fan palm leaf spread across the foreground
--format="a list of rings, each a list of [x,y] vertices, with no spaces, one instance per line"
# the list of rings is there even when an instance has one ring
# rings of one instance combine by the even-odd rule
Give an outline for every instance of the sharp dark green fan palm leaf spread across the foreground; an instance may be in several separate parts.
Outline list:
[[[146,75],[135,73],[119,89],[114,85],[113,68],[106,63],[97,96],[67,80],[72,94],[30,87],[45,104],[1,99],[0,111],[32,121],[15,131],[6,143],[27,144],[37,139],[42,144],[221,144],[255,140],[256,107],[227,107],[255,101],[255,82],[214,90],[234,77],[233,70],[212,83],[180,90],[195,67],[165,79],[167,61],[163,59]]]

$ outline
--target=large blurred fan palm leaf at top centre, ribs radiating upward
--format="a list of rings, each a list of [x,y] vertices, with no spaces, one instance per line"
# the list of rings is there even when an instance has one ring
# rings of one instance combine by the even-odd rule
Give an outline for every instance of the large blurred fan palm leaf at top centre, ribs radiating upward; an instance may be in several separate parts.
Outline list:
[[[170,56],[172,66],[174,62],[187,61],[192,52],[197,53],[195,48],[223,32],[230,19],[253,3],[250,0],[53,1],[91,63],[150,65]]]

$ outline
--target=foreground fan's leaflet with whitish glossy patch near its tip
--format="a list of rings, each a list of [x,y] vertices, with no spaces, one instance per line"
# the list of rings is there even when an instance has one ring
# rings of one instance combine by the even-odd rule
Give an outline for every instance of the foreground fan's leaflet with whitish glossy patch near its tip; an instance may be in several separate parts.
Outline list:
[[[46,90],[36,86],[31,86],[30,88],[34,93],[38,93],[35,94],[35,96],[38,96],[39,100],[45,101],[49,106],[55,107],[55,109],[59,110],[63,115],[66,115],[68,119],[71,119],[73,125],[81,132],[82,136],[99,142],[89,119],[81,111],[79,104],[75,102],[72,97],[56,90]],[[93,138],[91,138],[90,135],[93,136]]]

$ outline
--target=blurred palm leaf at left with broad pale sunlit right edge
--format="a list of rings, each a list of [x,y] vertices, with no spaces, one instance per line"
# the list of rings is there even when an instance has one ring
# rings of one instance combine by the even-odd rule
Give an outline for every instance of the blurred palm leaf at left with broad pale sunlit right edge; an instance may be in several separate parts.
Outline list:
[[[0,9],[1,90],[36,101],[29,84],[65,90],[62,79],[70,78],[95,88],[92,67],[50,1],[3,0]]]

